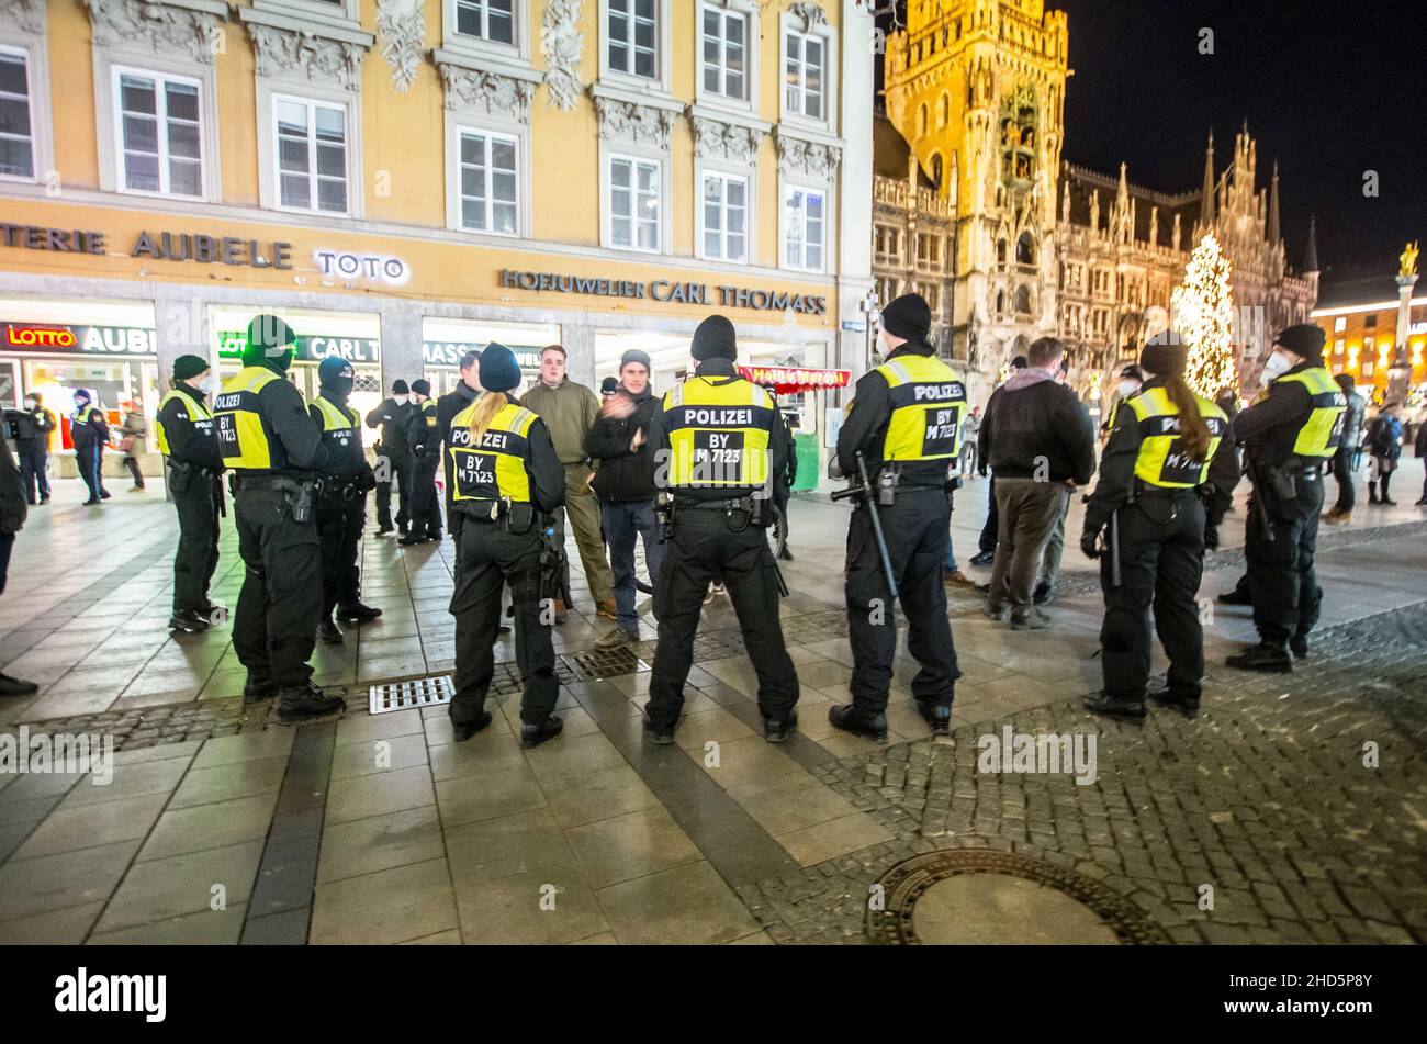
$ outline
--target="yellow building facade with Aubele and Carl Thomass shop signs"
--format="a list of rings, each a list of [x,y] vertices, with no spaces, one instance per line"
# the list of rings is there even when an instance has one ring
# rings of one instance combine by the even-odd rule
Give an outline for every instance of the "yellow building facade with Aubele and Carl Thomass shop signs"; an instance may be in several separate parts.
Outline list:
[[[258,309],[304,391],[338,352],[370,401],[492,339],[666,385],[714,311],[743,362],[849,365],[870,31],[855,0],[3,0],[0,398],[151,416]]]

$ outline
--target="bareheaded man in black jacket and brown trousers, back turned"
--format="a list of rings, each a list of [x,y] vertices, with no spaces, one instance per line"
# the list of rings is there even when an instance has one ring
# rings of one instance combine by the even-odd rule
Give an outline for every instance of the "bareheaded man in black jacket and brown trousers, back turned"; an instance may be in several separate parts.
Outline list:
[[[1046,545],[1062,523],[1070,491],[1095,474],[1090,415],[1056,381],[1063,354],[1065,345],[1052,337],[1032,344],[1026,368],[992,392],[982,422],[997,516],[987,613],[999,620],[1009,605],[1015,630],[1050,626],[1033,602]]]

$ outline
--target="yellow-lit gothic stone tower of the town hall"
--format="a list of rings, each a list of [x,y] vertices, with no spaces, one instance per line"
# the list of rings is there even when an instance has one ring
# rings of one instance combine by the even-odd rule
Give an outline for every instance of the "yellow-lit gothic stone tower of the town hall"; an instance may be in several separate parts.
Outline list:
[[[1056,329],[1065,86],[1066,16],[1043,0],[908,0],[888,39],[888,118],[955,207],[953,355],[973,385]]]

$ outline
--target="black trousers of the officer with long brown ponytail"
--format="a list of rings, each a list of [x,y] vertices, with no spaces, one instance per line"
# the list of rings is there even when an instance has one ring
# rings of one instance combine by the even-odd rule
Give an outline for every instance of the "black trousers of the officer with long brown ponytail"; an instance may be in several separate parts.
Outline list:
[[[1110,583],[1110,555],[1100,555],[1100,667],[1104,692],[1144,700],[1150,676],[1150,609],[1169,656],[1169,690],[1199,699],[1204,630],[1199,580],[1204,572],[1204,502],[1197,491],[1142,493],[1120,508],[1120,583]]]

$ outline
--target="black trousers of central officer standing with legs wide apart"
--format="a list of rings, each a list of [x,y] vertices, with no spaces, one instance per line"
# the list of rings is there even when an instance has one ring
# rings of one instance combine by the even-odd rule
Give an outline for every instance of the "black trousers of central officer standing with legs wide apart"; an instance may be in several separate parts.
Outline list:
[[[735,515],[742,518],[742,515]],[[778,616],[778,578],[762,526],[728,528],[722,511],[676,508],[674,532],[654,585],[659,645],[645,713],[655,727],[672,729],[684,710],[684,683],[694,663],[694,636],[712,580],[722,580],[733,603],[743,648],[758,675],[758,709],[786,720],[798,703],[798,672],[783,645]]]

